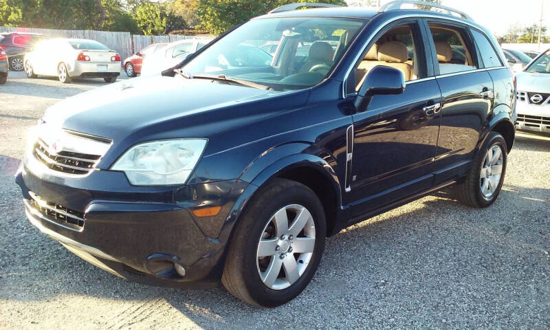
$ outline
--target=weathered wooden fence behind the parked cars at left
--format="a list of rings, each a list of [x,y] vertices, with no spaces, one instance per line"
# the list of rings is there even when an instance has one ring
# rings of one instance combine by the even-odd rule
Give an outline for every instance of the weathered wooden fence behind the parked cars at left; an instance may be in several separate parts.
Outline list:
[[[0,26],[1,32],[32,32],[45,34],[52,38],[91,39],[98,41],[111,50],[116,50],[122,59],[142,50],[151,43],[170,43],[183,39],[193,39],[194,36],[180,36],[170,34],[167,36],[140,36],[130,32],[107,32],[94,30],[50,30],[37,28],[8,28]]]

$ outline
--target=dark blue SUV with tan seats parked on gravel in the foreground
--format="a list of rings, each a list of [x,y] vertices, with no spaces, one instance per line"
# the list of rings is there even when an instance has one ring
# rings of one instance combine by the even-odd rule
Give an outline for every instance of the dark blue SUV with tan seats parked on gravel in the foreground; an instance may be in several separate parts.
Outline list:
[[[448,186],[490,206],[514,144],[514,77],[466,14],[403,3],[417,2],[284,5],[162,75],[55,104],[16,177],[28,219],[123,278],[221,279],[274,307],[342,228]],[[232,63],[240,45],[275,41],[270,63]]]

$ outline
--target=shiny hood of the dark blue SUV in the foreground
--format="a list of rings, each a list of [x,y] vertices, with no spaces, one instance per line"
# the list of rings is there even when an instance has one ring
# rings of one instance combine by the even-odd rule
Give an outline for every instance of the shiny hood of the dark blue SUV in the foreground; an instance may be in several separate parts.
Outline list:
[[[54,127],[107,137],[118,142],[132,133],[168,120],[193,117],[197,124],[199,117],[201,122],[212,121],[212,118],[218,116],[207,117],[210,111],[280,94],[276,91],[212,83],[212,80],[206,79],[187,80],[164,76],[134,78],[58,102],[47,109],[43,120]],[[183,124],[180,127],[185,126]]]

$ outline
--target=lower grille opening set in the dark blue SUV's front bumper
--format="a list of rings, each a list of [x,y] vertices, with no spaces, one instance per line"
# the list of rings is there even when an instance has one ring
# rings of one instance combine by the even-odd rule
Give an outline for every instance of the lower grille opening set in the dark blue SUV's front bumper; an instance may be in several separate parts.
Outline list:
[[[45,201],[34,194],[34,192],[29,192],[29,194],[32,198],[29,202],[30,207],[36,212],[40,212],[43,217],[76,230],[82,230],[84,228],[84,212],[66,208],[52,201]]]

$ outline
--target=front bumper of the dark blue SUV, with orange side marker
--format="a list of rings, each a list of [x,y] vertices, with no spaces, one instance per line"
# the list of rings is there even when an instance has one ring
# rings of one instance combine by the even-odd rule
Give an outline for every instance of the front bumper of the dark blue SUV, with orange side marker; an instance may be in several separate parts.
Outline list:
[[[177,189],[133,187],[123,173],[97,170],[71,179],[35,175],[24,164],[16,181],[29,221],[71,252],[131,281],[177,287],[219,280],[225,242],[217,237],[248,186],[232,180]],[[69,226],[43,212],[36,207],[36,196],[65,212],[83,212],[84,224]],[[195,217],[192,210],[204,206],[221,206],[221,211]]]

